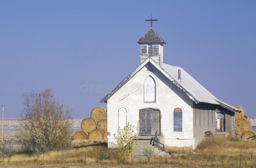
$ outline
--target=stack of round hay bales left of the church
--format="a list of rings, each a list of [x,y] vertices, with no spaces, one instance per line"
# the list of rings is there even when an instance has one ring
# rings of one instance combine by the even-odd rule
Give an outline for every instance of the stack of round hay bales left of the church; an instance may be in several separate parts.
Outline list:
[[[84,118],[81,129],[76,131],[74,140],[103,140],[107,139],[107,110],[104,107],[94,107],[90,118]]]

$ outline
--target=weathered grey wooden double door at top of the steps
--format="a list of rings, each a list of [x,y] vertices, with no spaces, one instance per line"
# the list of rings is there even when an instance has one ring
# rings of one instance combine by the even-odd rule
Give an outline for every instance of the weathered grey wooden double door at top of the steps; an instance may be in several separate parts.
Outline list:
[[[140,109],[139,135],[160,135],[160,110],[153,108]]]

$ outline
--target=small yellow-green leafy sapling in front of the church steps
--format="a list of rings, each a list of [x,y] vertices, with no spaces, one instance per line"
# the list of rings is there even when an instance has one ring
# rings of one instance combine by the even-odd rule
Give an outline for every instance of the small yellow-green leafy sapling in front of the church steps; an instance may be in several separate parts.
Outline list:
[[[133,137],[136,137],[136,133],[134,126],[129,122],[122,129],[119,126],[117,134],[114,134],[116,145],[119,147],[118,158],[122,163],[131,156],[131,152],[137,147],[137,140],[133,141]]]

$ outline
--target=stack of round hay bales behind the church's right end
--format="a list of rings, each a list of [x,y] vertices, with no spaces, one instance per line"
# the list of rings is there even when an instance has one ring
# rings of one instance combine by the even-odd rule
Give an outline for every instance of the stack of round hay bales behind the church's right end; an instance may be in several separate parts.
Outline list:
[[[247,139],[256,135],[256,131],[252,130],[252,123],[247,119],[247,116],[244,115],[244,109],[238,105],[233,105],[241,112],[235,113],[235,122],[236,122],[236,137]]]

